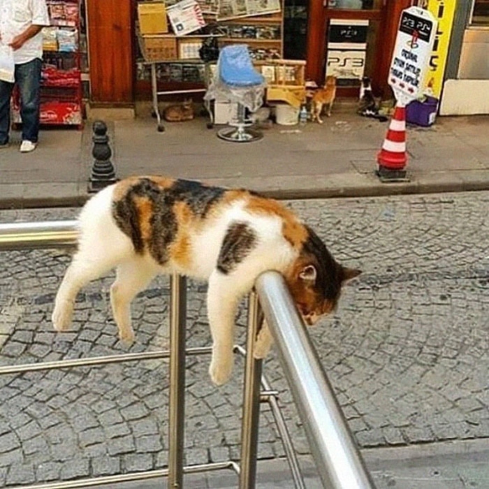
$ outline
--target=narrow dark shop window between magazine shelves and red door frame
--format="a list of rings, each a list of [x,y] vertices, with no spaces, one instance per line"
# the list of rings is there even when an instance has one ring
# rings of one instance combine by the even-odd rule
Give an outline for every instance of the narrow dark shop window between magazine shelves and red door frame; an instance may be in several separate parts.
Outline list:
[[[284,0],[284,58],[306,59],[308,0]]]

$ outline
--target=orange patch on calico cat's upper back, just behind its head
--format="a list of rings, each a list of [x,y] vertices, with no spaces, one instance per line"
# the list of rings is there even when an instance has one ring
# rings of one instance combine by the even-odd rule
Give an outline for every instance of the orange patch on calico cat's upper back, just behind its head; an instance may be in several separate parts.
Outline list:
[[[294,248],[299,249],[302,243],[307,240],[307,229],[302,226],[293,212],[277,202],[277,200],[250,196],[246,208],[249,212],[255,214],[269,214],[280,217],[283,221],[282,233],[284,238]]]

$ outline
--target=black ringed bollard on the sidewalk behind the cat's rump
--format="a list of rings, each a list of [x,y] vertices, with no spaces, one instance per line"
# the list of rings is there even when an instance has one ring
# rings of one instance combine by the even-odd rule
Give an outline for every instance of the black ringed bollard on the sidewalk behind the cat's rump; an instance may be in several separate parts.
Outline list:
[[[103,121],[95,121],[92,124],[92,141],[94,147],[92,149],[92,156],[94,156],[94,164],[92,166],[92,174],[90,175],[90,182],[88,191],[97,192],[110,184],[117,182],[115,178],[115,170],[110,161],[112,156],[112,150],[109,146],[109,137],[107,136],[107,124]]]

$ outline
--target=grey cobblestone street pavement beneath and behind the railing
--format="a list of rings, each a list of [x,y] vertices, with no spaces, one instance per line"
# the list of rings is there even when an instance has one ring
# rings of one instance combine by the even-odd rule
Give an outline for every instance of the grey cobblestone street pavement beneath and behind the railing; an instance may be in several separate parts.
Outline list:
[[[489,192],[296,201],[342,262],[363,275],[344,291],[314,343],[363,447],[489,437]],[[0,221],[72,217],[4,211]],[[50,324],[69,257],[0,254],[0,364],[126,351],[108,307],[110,277],[78,297],[68,333]],[[133,303],[136,344],[168,342],[168,281]],[[210,344],[205,286],[191,283],[187,345]],[[245,309],[237,319],[244,341]],[[188,464],[239,458],[242,359],[215,388],[209,358],[188,358]],[[265,373],[280,392],[300,453],[307,444],[276,353]],[[161,468],[167,456],[167,363],[159,360],[0,378],[0,486]],[[258,456],[284,454],[266,407]]]

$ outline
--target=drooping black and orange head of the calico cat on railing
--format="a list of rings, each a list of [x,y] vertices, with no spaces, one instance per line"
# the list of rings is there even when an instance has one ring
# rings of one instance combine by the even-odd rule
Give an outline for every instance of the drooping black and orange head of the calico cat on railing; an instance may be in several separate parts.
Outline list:
[[[307,231],[309,238],[285,277],[302,318],[312,326],[336,309],[342,286],[361,272],[337,263],[316,233]]]

